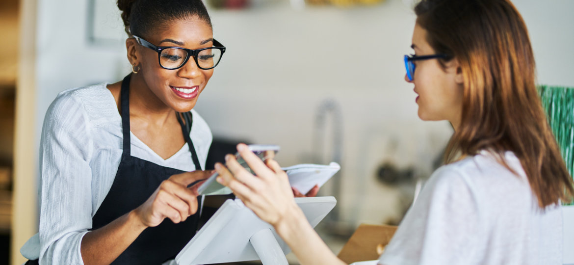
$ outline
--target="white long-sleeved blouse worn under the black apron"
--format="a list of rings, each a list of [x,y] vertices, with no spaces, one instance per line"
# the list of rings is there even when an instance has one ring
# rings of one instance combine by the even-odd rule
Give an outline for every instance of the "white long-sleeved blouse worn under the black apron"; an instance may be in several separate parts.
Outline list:
[[[40,264],[83,264],[82,237],[114,182],[122,156],[122,118],[106,83],[61,92],[46,112],[40,143],[40,232],[20,252]],[[212,135],[192,110],[190,132],[202,167]],[[193,171],[187,143],[163,159],[130,133],[131,155]]]

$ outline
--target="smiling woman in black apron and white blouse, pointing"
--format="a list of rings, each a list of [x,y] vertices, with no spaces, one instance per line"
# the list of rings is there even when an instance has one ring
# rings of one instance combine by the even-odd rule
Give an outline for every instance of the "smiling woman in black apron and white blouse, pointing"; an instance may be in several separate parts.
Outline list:
[[[225,47],[201,0],[118,0],[132,73],[61,92],[41,141],[28,264],[161,264],[193,237],[211,145],[193,110]],[[173,262],[173,260],[172,260]]]

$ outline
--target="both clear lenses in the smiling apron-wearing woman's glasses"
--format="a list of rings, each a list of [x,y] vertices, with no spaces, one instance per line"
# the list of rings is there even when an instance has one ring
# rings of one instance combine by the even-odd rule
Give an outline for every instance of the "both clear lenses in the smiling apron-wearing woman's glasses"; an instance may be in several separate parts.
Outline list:
[[[200,68],[212,68],[219,63],[221,59],[220,49],[204,49],[200,50],[197,54],[197,65]],[[187,50],[176,49],[176,48],[166,48],[161,50],[160,54],[160,64],[165,68],[179,68],[185,63],[185,58],[187,57]],[[191,60],[194,60],[190,58]]]

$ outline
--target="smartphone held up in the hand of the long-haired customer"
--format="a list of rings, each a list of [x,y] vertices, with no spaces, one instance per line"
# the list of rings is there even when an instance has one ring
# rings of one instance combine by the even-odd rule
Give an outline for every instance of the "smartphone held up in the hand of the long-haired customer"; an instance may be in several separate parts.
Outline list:
[[[248,145],[249,150],[251,150],[257,157],[261,158],[262,161],[266,161],[269,158],[275,157],[275,154],[279,151],[280,147],[277,145]],[[239,165],[242,165],[247,169],[247,171],[253,173],[253,170],[249,168],[247,162],[243,160],[239,153],[235,154],[235,159],[239,162]],[[229,190],[226,186],[219,184],[215,179],[219,176],[217,172],[212,174],[199,188],[197,192],[200,195],[220,195],[220,194],[230,194],[231,190]]]

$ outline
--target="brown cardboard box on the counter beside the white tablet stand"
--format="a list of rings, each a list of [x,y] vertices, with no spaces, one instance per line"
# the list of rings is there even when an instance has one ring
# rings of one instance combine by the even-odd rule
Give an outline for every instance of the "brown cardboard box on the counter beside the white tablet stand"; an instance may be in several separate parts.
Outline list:
[[[361,224],[337,256],[347,264],[379,259],[395,231],[393,225]]]

